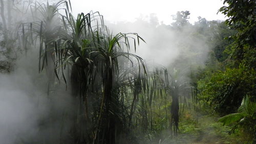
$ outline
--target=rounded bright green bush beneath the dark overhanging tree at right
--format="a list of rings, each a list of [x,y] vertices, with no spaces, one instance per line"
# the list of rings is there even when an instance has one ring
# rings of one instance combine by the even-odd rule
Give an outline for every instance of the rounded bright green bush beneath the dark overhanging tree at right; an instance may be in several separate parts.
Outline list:
[[[228,114],[238,109],[246,94],[255,95],[255,81],[255,70],[240,65],[215,73],[202,88],[214,109]]]

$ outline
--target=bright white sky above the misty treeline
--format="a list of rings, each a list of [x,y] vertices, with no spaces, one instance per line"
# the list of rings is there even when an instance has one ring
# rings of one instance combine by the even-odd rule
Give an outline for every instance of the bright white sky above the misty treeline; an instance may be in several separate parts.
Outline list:
[[[155,13],[159,22],[165,24],[172,23],[172,16],[177,11],[189,11],[190,22],[198,20],[198,16],[207,20],[224,20],[221,13],[217,15],[220,7],[223,6],[221,0],[71,0],[73,13],[88,13],[91,10],[99,11],[105,20],[135,21],[140,15],[146,16]]]

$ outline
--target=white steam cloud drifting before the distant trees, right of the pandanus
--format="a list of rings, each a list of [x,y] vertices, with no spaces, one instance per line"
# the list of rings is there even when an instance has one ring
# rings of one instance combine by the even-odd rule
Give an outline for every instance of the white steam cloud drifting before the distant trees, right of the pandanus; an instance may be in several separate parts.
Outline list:
[[[140,17],[135,22],[106,22],[115,33],[138,33],[146,43],[140,41],[136,54],[145,61],[173,69],[177,60],[186,65],[176,68],[189,68],[189,64],[204,65],[210,51],[204,37],[195,37],[195,27],[184,26],[175,30],[170,25],[158,25],[158,17]],[[133,44],[133,41],[130,41]],[[131,44],[131,45],[132,45]],[[179,63],[180,64],[180,63]]]

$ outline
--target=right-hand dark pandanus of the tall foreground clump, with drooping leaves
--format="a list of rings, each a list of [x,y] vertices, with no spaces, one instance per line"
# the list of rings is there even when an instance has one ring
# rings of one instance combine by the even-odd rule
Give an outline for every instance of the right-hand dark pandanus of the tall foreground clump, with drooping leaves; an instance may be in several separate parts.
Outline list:
[[[136,35],[138,40],[140,38],[137,34],[122,34],[118,33],[113,36],[112,34],[104,39],[101,39],[102,45],[99,45],[92,51],[92,53],[96,54],[98,61],[101,63],[101,78],[102,78],[102,86],[103,86],[103,95],[101,99],[100,106],[100,114],[98,117],[99,125],[103,126],[105,129],[103,133],[105,135],[104,141],[106,143],[115,143],[115,135],[117,133],[118,124],[119,124],[119,116],[115,114],[115,111],[120,111],[118,107],[119,98],[118,95],[113,94],[113,82],[115,82],[116,76],[119,74],[119,63],[118,59],[127,58],[128,61],[132,62],[132,58],[135,58],[142,66],[145,67],[143,61],[140,57],[125,52],[121,47],[121,42],[125,43],[127,49],[130,49],[129,46],[129,35]],[[136,45],[135,45],[136,47]],[[145,70],[145,68],[144,68]],[[104,116],[103,116],[104,112]],[[102,119],[104,119],[105,123],[102,123]],[[100,124],[101,123],[101,124]],[[97,132],[95,134],[95,139],[97,137]]]

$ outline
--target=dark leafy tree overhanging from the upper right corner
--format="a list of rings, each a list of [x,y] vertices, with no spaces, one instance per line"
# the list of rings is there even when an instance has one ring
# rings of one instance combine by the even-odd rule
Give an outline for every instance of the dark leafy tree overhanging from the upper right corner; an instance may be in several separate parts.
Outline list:
[[[232,38],[234,44],[229,51],[231,57],[238,63],[244,63],[256,68],[256,2],[255,0],[234,1],[225,0],[219,12],[229,18],[226,24],[238,31]]]

